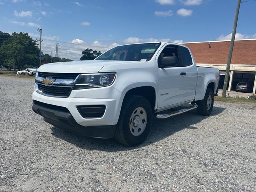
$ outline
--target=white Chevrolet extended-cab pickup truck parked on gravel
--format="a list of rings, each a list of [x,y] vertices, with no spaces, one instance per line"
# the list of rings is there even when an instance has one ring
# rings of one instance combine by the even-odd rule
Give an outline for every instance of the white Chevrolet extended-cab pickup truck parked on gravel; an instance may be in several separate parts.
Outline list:
[[[135,146],[147,138],[154,116],[195,108],[210,115],[218,82],[219,70],[197,67],[186,46],[129,44],[91,61],[40,66],[32,109],[56,127]]]

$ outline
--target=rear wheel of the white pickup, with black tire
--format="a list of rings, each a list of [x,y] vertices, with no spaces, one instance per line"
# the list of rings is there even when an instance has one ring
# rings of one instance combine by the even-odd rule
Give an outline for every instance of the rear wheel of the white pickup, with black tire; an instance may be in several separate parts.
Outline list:
[[[204,99],[196,101],[198,107],[196,108],[197,113],[203,116],[209,116],[212,112],[214,103],[213,91],[210,88],[207,88]]]

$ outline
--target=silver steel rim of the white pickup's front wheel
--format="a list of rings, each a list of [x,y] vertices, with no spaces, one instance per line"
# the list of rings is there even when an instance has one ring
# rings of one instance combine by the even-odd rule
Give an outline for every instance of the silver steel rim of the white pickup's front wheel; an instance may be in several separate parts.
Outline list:
[[[137,107],[130,116],[130,132],[133,136],[140,136],[147,125],[148,115],[143,107]]]

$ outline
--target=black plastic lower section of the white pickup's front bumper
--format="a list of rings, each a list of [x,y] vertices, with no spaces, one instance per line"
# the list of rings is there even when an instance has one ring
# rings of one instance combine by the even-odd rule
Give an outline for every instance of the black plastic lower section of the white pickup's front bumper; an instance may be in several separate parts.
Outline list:
[[[54,106],[54,105],[48,105]],[[55,106],[49,108],[44,103],[34,102],[32,110],[44,117],[44,120],[53,126],[62,128],[64,130],[76,132],[83,136],[97,137],[97,138],[113,138],[116,130],[116,125],[110,126],[81,126],[78,124],[68,109],[62,110],[63,107]]]

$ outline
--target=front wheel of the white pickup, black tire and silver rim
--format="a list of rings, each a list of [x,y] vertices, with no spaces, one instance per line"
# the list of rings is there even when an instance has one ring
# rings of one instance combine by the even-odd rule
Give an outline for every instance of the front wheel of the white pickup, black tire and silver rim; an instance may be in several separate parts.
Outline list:
[[[114,138],[126,146],[141,144],[150,132],[152,120],[152,108],[146,98],[137,95],[126,96],[122,104]],[[141,126],[142,128],[140,128]],[[135,132],[133,128],[136,130]],[[136,136],[136,134],[139,135]]]

